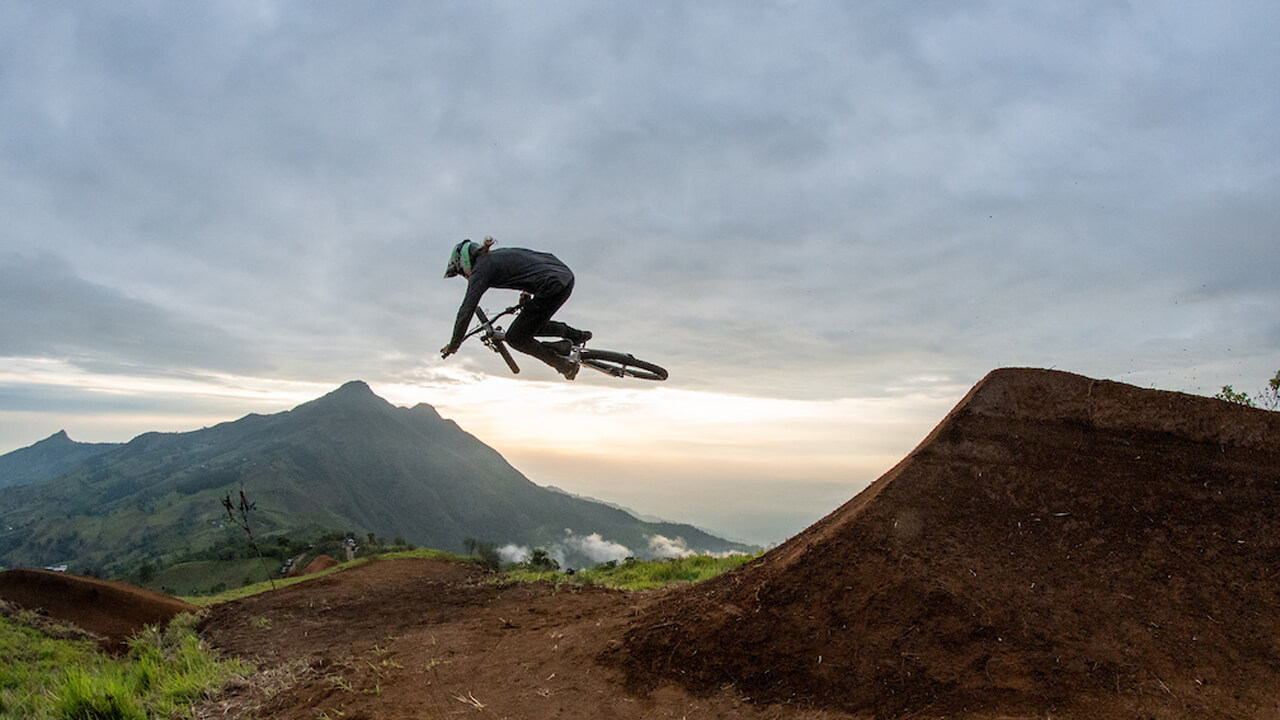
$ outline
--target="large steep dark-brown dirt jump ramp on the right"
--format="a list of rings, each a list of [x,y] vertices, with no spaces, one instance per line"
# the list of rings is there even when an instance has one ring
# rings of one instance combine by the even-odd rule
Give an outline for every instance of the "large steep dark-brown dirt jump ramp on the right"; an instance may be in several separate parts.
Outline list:
[[[1280,714],[1280,414],[996,370],[905,460],[604,655],[877,717]]]

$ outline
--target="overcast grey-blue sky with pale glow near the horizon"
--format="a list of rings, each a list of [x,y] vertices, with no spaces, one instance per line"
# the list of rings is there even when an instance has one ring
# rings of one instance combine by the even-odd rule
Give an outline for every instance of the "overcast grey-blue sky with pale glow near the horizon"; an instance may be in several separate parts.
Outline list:
[[[364,379],[777,542],[995,368],[1252,392],[1277,36],[1268,0],[0,0],[0,452]],[[440,360],[486,234],[671,379]]]

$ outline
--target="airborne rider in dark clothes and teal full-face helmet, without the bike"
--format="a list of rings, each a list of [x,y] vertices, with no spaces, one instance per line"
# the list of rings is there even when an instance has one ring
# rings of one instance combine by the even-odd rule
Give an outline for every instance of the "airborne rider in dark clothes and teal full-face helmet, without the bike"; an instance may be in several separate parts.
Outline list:
[[[467,325],[480,305],[480,297],[490,287],[521,291],[524,309],[507,328],[507,343],[516,350],[532,355],[556,369],[566,379],[577,375],[577,363],[556,352],[534,336],[568,338],[575,345],[582,345],[591,338],[590,331],[580,331],[552,320],[552,315],[564,305],[573,292],[573,272],[549,252],[538,252],[522,247],[503,247],[490,250],[493,238],[484,243],[463,240],[449,254],[445,278],[463,275],[467,278],[467,293],[458,307],[458,319],[453,324],[453,338],[440,348],[440,356],[448,357],[457,352],[467,334]]]

